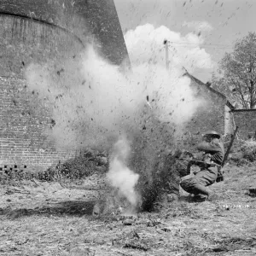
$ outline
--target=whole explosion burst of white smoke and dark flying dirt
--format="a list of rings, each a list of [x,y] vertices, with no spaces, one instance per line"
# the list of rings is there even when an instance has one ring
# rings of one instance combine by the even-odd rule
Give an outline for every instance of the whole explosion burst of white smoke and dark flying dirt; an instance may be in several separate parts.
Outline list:
[[[154,34],[152,26],[145,28]],[[166,30],[161,27],[157,32]],[[150,33],[148,41],[153,40]],[[127,32],[128,44],[136,35],[137,30]],[[158,41],[154,47],[159,46]],[[132,42],[128,50],[136,52],[136,40]],[[155,50],[153,55],[157,56]],[[131,57],[135,59],[135,54]],[[132,72],[122,72],[88,44],[75,60],[63,60],[61,73],[56,72],[54,63],[32,64],[26,69],[30,89],[38,91],[55,120],[55,126],[45,131],[49,140],[57,148],[92,147],[112,152],[108,181],[133,210],[150,208],[154,199],[148,202],[149,192],[154,191],[150,196],[156,198],[158,189],[152,188],[164,182],[158,176],[175,173],[172,166],[160,166],[161,159],[166,162],[163,152],[177,147],[183,125],[203,104],[190,88],[189,78],[183,76],[177,55],[171,71],[163,61],[147,61],[145,53],[143,59],[146,62],[132,61]],[[158,172],[162,169],[165,174]],[[174,175],[171,183],[176,182]]]

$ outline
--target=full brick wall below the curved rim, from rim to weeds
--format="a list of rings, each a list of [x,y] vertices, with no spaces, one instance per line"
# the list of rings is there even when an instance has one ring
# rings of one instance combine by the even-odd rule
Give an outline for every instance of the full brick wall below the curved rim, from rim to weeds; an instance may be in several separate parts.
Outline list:
[[[0,171],[45,169],[72,158],[73,151],[57,151],[44,135],[50,110],[19,77],[31,62],[51,61],[60,70],[62,60],[73,58],[83,44],[58,27],[9,15],[0,15],[0,38]]]

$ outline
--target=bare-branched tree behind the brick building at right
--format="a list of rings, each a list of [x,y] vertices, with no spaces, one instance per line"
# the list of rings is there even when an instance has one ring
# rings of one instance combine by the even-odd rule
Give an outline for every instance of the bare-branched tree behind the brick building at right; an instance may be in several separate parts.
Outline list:
[[[240,108],[256,107],[256,33],[249,32],[225,53],[219,62],[218,75],[212,76],[212,87],[223,92]]]

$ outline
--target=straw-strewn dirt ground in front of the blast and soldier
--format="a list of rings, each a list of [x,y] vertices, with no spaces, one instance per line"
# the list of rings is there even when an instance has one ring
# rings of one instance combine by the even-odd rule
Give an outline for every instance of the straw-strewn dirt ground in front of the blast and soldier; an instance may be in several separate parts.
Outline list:
[[[217,201],[181,200],[160,213],[93,216],[104,177],[0,188],[0,255],[255,255],[256,167],[226,166]],[[98,190],[99,189],[99,190]]]

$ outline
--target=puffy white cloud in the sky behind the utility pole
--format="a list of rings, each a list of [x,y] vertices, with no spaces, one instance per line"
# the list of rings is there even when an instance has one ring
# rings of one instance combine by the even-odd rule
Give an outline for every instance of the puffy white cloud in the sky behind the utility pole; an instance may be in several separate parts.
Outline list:
[[[211,55],[201,48],[203,37],[193,32],[182,36],[166,26],[155,28],[151,24],[137,26],[136,29],[125,33],[125,43],[131,62],[134,65],[154,63],[164,67],[166,65],[164,40],[170,42],[169,61],[172,69],[186,67],[189,72],[193,72],[195,68],[213,67]]]

